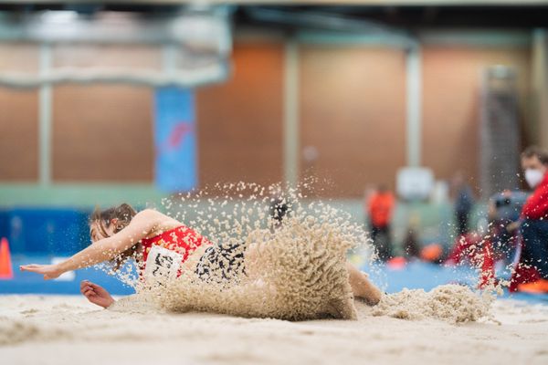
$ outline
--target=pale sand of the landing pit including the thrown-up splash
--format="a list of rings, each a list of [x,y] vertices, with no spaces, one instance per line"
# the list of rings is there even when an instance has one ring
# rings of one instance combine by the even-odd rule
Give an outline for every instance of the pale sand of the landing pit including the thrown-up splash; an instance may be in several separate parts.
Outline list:
[[[354,301],[346,254],[368,245],[361,224],[295,195],[291,216],[274,227],[269,197],[251,188],[264,198],[229,212],[211,200],[190,222],[213,242],[246,250],[246,274],[219,287],[215,276],[184,272],[153,297],[142,291],[108,310],[84,297],[0,297],[1,363],[548,363],[548,307],[493,303],[458,286],[402,291],[375,307]],[[330,316],[341,319],[318,319]]]

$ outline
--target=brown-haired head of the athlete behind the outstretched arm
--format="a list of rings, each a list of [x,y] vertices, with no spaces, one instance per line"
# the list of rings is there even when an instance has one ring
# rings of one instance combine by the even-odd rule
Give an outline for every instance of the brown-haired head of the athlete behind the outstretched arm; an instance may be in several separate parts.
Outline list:
[[[110,237],[125,228],[137,214],[130,204],[123,203],[104,211],[95,209],[90,216],[91,242]]]

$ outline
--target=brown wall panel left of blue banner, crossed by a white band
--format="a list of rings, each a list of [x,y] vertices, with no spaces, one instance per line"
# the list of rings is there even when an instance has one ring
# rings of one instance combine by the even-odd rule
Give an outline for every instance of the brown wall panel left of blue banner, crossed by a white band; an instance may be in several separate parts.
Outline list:
[[[54,67],[160,68],[158,47],[58,46]],[[53,92],[56,182],[153,181],[153,89],[62,85]]]

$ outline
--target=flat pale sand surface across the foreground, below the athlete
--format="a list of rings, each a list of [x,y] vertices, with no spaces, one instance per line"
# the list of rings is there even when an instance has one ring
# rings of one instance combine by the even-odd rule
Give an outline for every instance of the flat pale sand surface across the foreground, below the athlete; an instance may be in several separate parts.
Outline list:
[[[83,297],[3,296],[0,363],[548,363],[546,306],[498,300],[491,310],[495,321],[458,325],[392,318],[360,302],[356,308],[358,320],[290,322],[114,312]]]

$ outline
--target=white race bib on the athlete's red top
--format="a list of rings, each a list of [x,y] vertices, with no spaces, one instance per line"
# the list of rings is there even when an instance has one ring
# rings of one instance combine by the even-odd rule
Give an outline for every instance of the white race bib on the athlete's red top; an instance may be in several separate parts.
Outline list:
[[[153,245],[146,259],[144,278],[147,283],[162,283],[177,277],[183,255],[159,245]]]

